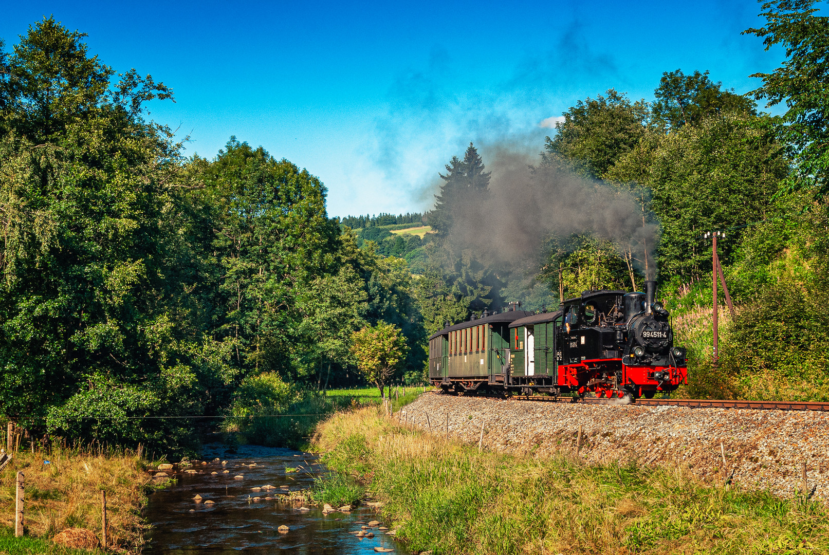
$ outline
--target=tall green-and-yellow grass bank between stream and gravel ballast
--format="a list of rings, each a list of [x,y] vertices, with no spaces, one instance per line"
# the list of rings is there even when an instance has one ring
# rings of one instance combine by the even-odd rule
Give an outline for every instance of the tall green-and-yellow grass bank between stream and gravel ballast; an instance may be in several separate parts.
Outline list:
[[[822,504],[705,485],[683,468],[479,453],[378,408],[335,414],[315,447],[339,473],[318,502],[382,500],[397,538],[435,555],[829,553]]]

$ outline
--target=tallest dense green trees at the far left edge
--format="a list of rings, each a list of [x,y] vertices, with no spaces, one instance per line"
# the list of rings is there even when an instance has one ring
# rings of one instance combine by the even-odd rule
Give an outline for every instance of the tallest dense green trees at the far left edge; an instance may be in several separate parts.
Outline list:
[[[228,374],[221,357],[200,355],[180,303],[194,261],[171,210],[177,145],[142,118],[143,102],[169,91],[133,74],[111,84],[83,36],[46,18],[5,61],[0,404],[12,417],[55,409],[55,426],[72,407],[198,413],[211,402],[200,380]],[[114,389],[135,402],[115,410]],[[145,424],[181,439],[169,422]]]

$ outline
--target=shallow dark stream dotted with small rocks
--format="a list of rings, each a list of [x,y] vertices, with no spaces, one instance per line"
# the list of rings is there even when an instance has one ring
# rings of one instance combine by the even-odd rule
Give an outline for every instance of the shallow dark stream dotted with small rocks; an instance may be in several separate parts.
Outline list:
[[[176,483],[149,496],[144,518],[151,526],[143,553],[345,555],[376,553],[376,547],[393,549],[390,553],[410,553],[379,529],[384,524],[375,509],[360,505],[350,513],[322,514],[320,507],[285,500],[289,491],[311,487],[314,475],[325,472],[316,456],[261,446],[240,446],[231,456],[218,445],[206,446],[201,455],[204,458],[192,466],[167,471],[175,475]],[[188,470],[196,473],[186,473]],[[239,475],[242,477],[235,477]],[[275,489],[252,490],[264,485]],[[196,495],[201,499],[194,499]],[[273,499],[265,499],[268,497]],[[300,511],[303,506],[310,510]],[[372,520],[381,524],[364,532],[375,533],[374,538],[357,538],[350,533]],[[290,529],[280,533],[280,525]]]

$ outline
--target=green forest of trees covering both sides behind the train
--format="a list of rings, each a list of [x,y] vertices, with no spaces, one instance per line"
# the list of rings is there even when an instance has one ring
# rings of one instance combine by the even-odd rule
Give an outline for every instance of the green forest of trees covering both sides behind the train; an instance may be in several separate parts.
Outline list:
[[[530,181],[633,199],[658,230],[647,271],[658,264],[690,348],[687,395],[829,398],[829,25],[811,5],[772,2],[768,27],[749,30],[788,49],[752,93],[666,71],[652,103],[615,89],[580,101],[519,164]],[[363,329],[394,325],[394,379],[420,383],[425,338],[446,322],[642,287],[647,258],[595,229],[519,238],[537,239],[531,257],[500,256],[519,250],[511,236],[458,241],[470,222],[497,225],[506,182],[472,144],[435,168],[427,213],[342,219],[312,172],[244,138],[185,157],[146,111],[172,90],[117,73],[84,37],[45,18],[0,43],[0,407],[32,435],[180,450],[194,439],[183,417],[284,411],[365,383]],[[719,364],[702,237],[715,230],[736,304]]]

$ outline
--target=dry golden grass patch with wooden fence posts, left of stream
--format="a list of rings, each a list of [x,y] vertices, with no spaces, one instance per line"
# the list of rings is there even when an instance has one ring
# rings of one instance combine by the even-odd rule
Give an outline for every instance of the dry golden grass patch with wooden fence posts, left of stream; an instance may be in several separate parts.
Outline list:
[[[140,511],[152,487],[146,464],[130,452],[60,446],[34,454],[18,451],[0,473],[0,525],[11,528],[13,534],[15,480],[17,471],[22,471],[29,538],[9,538],[7,531],[0,530],[0,553],[85,553],[46,540],[65,528],[85,528],[100,539],[101,490],[107,492],[110,545],[120,551],[137,551],[143,543]]]

